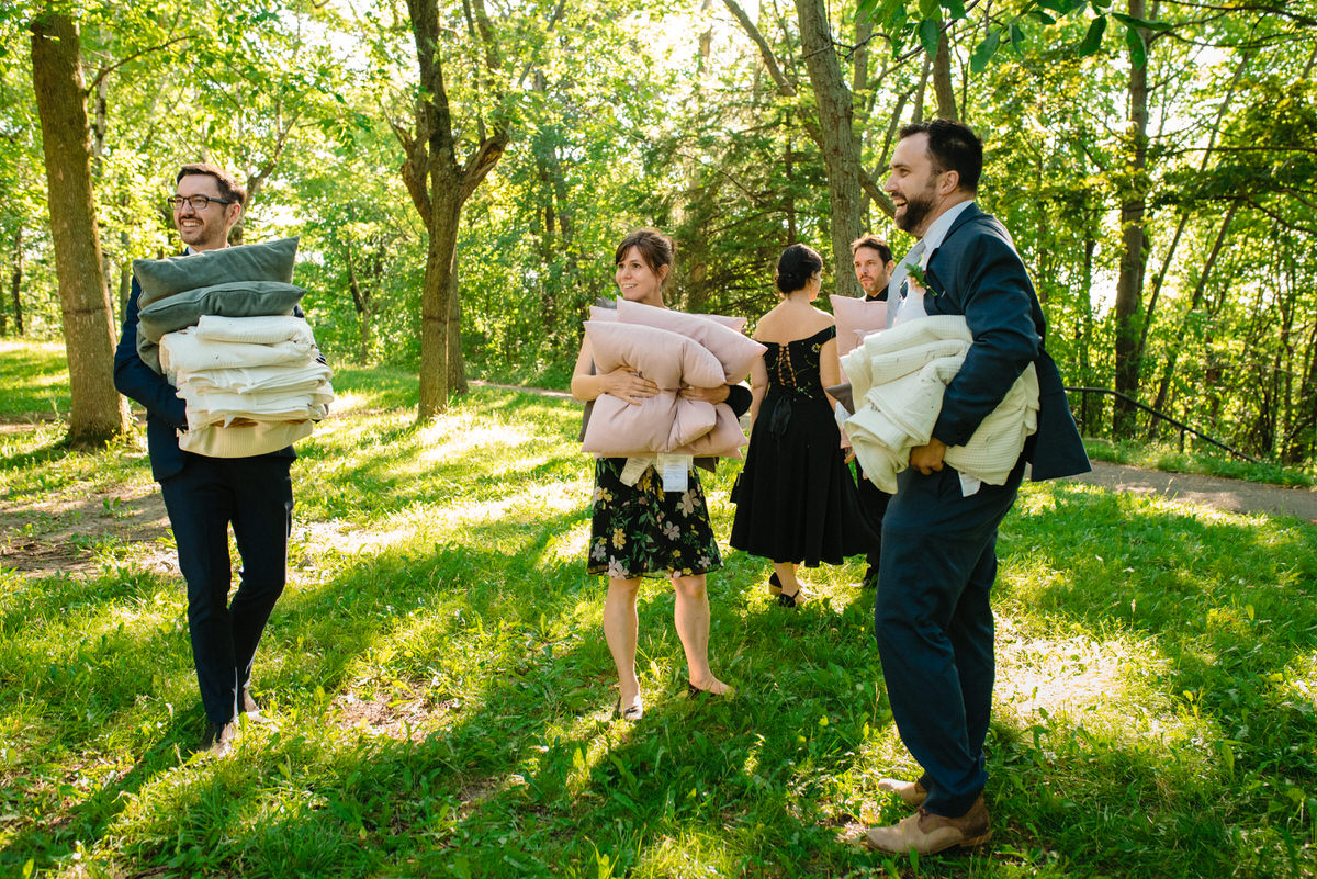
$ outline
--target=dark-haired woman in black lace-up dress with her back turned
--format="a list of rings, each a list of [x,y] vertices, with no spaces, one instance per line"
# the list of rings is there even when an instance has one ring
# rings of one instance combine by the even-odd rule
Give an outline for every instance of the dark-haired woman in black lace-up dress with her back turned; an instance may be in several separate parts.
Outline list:
[[[797,565],[840,565],[877,538],[860,508],[840,447],[835,403],[836,325],[811,303],[823,259],[792,245],[777,263],[782,301],[760,318],[755,339],[768,346],[751,371],[749,451],[736,487],[731,545],[773,562],[770,590],[795,607],[805,593]]]

